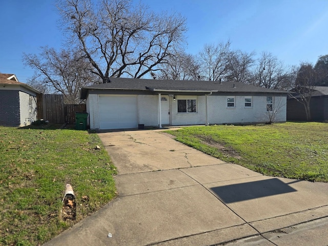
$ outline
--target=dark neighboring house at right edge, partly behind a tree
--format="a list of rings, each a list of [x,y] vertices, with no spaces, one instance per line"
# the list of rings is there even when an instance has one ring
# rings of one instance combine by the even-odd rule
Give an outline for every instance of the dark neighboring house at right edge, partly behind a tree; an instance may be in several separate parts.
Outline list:
[[[300,95],[290,94],[287,99],[287,119],[306,121],[305,108]],[[315,86],[310,99],[311,120],[328,121],[328,86]]]

